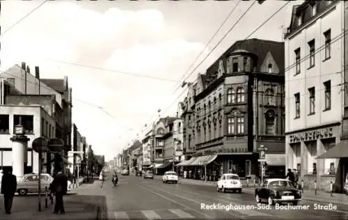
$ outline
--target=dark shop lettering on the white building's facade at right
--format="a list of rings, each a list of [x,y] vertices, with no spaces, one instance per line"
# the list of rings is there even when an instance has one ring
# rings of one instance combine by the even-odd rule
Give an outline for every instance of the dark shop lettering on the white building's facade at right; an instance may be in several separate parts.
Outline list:
[[[299,134],[290,135],[290,143],[300,142],[300,141],[315,141],[317,139],[328,139],[333,136],[333,128],[317,129],[310,132],[302,132]]]

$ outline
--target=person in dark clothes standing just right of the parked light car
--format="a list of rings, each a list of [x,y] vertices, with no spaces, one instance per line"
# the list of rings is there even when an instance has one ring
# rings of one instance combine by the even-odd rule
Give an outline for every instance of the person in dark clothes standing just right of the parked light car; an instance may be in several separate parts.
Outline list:
[[[68,177],[58,169],[58,173],[51,184],[51,190],[56,194],[56,204],[54,205],[54,214],[65,214],[63,195],[67,193]]]

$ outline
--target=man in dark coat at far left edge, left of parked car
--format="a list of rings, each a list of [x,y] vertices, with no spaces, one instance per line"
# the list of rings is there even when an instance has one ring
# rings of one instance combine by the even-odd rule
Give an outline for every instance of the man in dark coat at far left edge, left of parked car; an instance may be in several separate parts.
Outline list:
[[[17,191],[17,178],[12,174],[12,168],[8,168],[3,172],[1,180],[1,194],[3,194],[3,201],[6,214],[11,214],[13,197]]]

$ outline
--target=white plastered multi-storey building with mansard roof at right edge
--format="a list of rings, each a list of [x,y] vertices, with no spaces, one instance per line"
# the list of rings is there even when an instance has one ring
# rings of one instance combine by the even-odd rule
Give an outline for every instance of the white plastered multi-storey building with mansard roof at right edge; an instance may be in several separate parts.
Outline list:
[[[306,1],[294,6],[285,35],[286,165],[305,187],[342,190],[346,150],[347,2]],[[343,125],[343,126],[342,126]],[[336,159],[337,158],[337,159]]]

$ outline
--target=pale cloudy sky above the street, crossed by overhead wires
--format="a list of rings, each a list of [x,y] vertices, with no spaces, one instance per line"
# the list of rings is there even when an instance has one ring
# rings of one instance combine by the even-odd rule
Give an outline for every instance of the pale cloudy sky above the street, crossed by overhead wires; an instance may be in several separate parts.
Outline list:
[[[0,70],[25,61],[31,70],[39,65],[42,78],[67,75],[72,87],[72,120],[93,150],[108,160],[137,134],[143,137],[144,125],[155,120],[158,109],[162,109],[161,116],[175,116],[177,102],[170,104],[184,89],[176,90],[177,81],[196,68],[253,3],[239,3],[187,72],[237,0],[47,1],[8,30],[42,2],[1,1]],[[287,4],[252,37],[281,41],[292,6],[301,2]],[[189,81],[284,3],[255,3]]]

